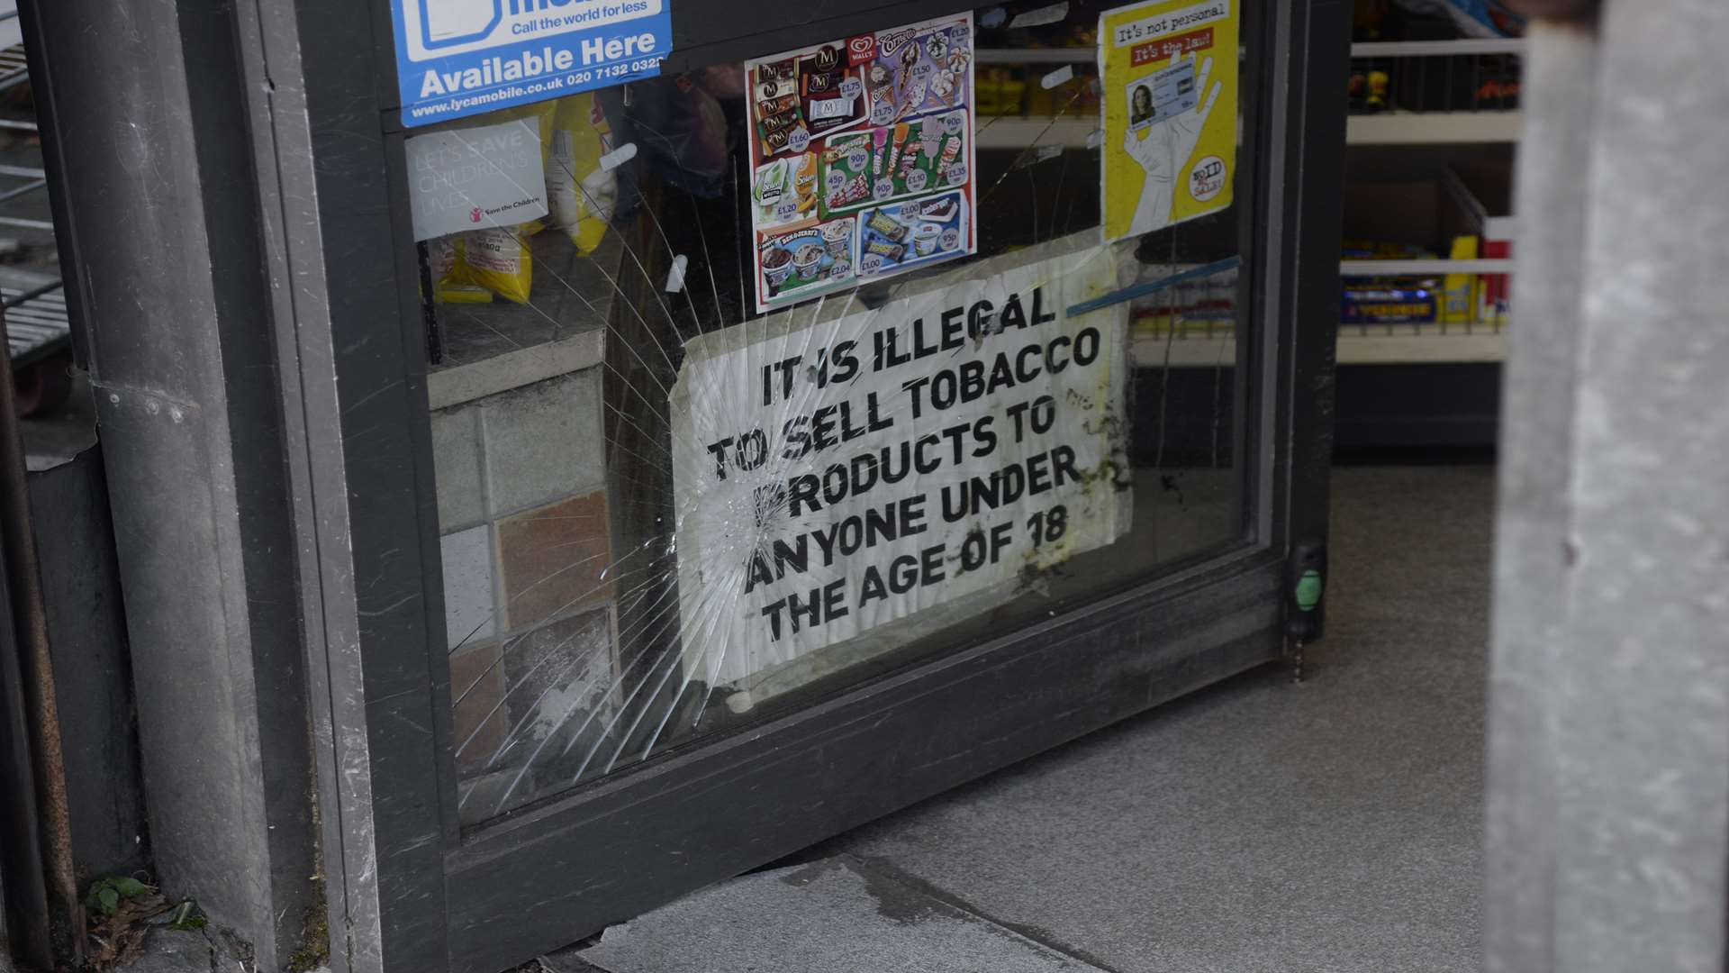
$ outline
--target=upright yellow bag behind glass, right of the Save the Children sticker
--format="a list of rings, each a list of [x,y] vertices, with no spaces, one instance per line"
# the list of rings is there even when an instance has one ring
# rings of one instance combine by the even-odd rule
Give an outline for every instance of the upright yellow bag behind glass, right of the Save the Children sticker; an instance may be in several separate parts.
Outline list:
[[[610,130],[593,93],[558,99],[546,158],[548,222],[588,256],[607,235],[619,196],[617,173],[600,164]]]

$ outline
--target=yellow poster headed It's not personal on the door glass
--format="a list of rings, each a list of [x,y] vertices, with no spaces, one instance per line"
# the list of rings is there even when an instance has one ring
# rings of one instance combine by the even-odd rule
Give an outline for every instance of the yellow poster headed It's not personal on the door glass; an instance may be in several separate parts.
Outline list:
[[[1231,204],[1238,2],[1153,0],[1100,16],[1105,242]]]

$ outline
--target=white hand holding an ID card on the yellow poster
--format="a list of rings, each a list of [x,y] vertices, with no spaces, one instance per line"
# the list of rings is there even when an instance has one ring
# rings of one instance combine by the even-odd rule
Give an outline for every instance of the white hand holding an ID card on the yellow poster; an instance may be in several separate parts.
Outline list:
[[[1122,151],[1139,163],[1146,182],[1127,235],[1150,234],[1171,225],[1177,180],[1195,154],[1195,144],[1200,142],[1207,116],[1212,114],[1212,106],[1224,87],[1214,81],[1205,104],[1200,104],[1198,95],[1207,88],[1210,76],[1212,57],[1202,62],[1196,78],[1195,55],[1190,54],[1162,71],[1129,83],[1126,90],[1129,130],[1124,133]]]

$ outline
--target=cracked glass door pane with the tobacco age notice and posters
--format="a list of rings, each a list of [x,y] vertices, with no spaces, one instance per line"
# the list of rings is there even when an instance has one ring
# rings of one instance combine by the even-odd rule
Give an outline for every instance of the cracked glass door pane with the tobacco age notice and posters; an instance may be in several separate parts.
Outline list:
[[[465,824],[1245,542],[1238,24],[980,9],[410,135]]]

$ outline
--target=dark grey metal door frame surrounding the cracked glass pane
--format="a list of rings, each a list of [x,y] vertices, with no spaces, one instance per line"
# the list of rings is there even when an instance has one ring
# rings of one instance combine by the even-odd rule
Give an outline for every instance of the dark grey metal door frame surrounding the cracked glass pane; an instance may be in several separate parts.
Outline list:
[[[968,5],[690,0],[667,69]],[[387,3],[239,5],[337,970],[491,973],[1276,656],[1326,535],[1347,9],[1262,7],[1245,544],[465,840]]]

